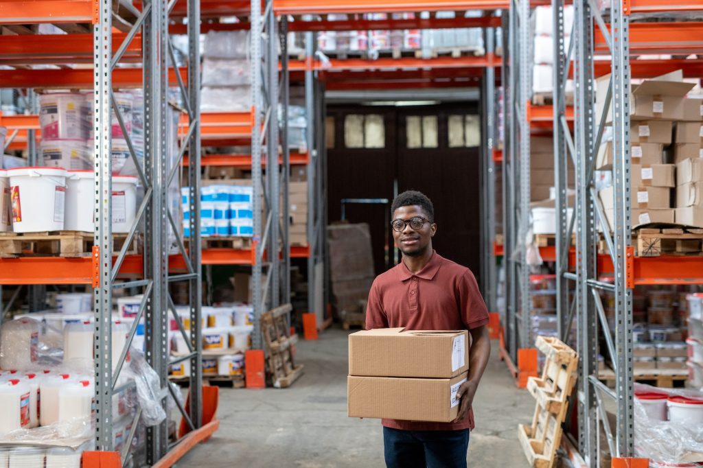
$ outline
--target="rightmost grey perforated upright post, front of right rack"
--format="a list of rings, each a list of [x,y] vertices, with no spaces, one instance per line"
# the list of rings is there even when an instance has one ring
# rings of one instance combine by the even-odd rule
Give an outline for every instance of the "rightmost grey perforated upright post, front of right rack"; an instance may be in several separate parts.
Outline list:
[[[631,260],[630,219],[630,53],[629,18],[623,4],[612,2],[612,127],[614,192],[615,346],[617,349],[617,456],[633,456],[634,407],[632,364],[632,290],[628,287]]]

